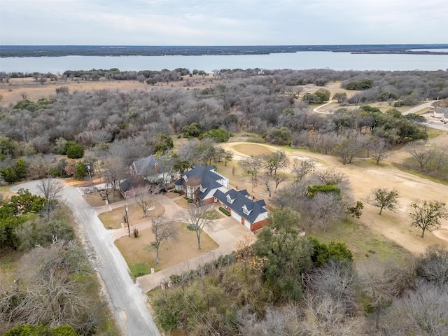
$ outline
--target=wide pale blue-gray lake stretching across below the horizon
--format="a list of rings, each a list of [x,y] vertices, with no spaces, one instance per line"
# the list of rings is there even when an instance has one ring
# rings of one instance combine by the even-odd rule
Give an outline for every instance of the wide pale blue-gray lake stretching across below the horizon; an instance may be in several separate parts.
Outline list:
[[[294,52],[224,56],[65,56],[0,58],[6,73],[63,73],[66,70],[118,68],[121,71],[187,68],[211,73],[215,69],[334,69],[334,70],[447,70],[448,55],[351,54]]]

